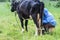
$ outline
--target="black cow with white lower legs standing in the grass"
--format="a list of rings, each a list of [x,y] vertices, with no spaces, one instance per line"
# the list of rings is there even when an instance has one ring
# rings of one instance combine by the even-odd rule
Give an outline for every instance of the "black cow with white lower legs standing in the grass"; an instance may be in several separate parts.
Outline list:
[[[44,3],[35,1],[35,0],[21,0],[18,2],[16,0],[13,0],[11,5],[12,5],[11,11],[12,12],[16,11],[19,16],[22,29],[24,29],[23,21],[25,19],[25,27],[26,27],[26,31],[28,31],[28,29],[27,29],[28,20],[26,20],[26,19],[29,19],[30,18],[29,16],[31,15],[32,19],[37,27],[36,34],[38,34],[38,31],[40,30],[39,29],[40,28],[39,19],[41,20],[40,22],[42,25],[42,15],[43,15],[43,10],[44,10]],[[39,19],[37,19],[38,14],[39,14]]]

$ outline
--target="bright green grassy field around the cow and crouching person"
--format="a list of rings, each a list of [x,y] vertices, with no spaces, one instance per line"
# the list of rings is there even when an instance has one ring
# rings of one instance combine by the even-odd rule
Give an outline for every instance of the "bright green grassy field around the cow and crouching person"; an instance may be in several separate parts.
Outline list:
[[[18,16],[10,11],[8,3],[0,3],[0,40],[60,40],[60,8],[52,5],[46,6],[54,15],[57,25],[53,35],[34,36],[35,25],[29,20],[28,32],[21,33],[21,25]]]

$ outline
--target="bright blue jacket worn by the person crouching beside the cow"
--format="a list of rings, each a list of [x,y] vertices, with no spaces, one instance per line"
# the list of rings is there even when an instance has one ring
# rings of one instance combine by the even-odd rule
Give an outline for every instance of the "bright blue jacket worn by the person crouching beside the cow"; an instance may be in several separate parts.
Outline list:
[[[44,8],[43,23],[50,23],[53,26],[56,25],[56,20],[46,8]]]

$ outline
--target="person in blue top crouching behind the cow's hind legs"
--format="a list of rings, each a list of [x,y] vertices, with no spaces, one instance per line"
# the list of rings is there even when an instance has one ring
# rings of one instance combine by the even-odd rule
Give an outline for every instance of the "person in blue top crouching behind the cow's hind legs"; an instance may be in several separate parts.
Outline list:
[[[50,33],[54,31],[56,26],[56,20],[47,8],[44,8],[43,26],[45,28],[45,31]]]

